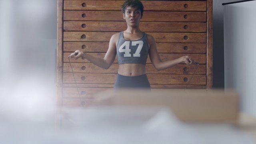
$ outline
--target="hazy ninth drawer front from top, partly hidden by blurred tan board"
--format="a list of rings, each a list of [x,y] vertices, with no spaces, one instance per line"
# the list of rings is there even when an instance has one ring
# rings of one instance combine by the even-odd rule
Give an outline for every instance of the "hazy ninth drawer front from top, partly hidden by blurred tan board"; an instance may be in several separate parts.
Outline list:
[[[111,90],[111,88],[63,88],[63,98],[94,98],[98,92]],[[79,94],[78,94],[79,92]]]

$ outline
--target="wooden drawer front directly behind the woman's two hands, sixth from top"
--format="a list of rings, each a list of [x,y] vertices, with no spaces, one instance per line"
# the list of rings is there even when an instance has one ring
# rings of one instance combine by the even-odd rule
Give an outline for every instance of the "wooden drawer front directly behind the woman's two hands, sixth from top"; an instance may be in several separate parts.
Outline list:
[[[69,62],[68,61],[68,56],[70,55],[71,53],[70,52],[64,52],[64,58],[63,58],[63,61],[64,62]],[[105,53],[90,53],[90,55],[92,56],[96,56],[96,57],[99,57],[99,58],[104,58],[105,56]],[[181,56],[186,56],[186,55],[189,55],[189,56],[192,56],[192,58],[198,62],[199,64],[206,64],[206,54],[159,54],[160,55],[160,58],[161,60],[163,61],[166,61],[166,60],[173,60],[173,59],[176,59],[176,58],[180,58]],[[90,61],[88,61],[87,59],[85,60],[82,60],[82,58],[79,58],[77,60],[75,60],[74,58],[70,58],[70,62],[82,62],[82,63],[90,63]],[[114,63],[117,63],[117,58],[114,60]],[[147,64],[150,64],[151,61],[150,61],[150,58],[148,57],[147,59]]]

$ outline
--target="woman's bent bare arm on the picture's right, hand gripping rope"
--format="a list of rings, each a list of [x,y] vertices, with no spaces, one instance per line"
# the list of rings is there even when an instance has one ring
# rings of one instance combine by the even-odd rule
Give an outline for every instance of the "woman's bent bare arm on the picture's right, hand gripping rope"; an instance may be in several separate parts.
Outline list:
[[[156,49],[156,42],[153,38],[153,36],[148,35],[148,45],[149,45],[149,58],[153,64],[153,66],[156,68],[156,70],[165,70],[167,68],[171,68],[172,66],[175,66],[176,64],[194,64],[194,60],[192,60],[191,56],[182,56],[180,58],[174,59],[174,60],[168,60],[168,61],[162,61],[160,59],[160,56],[158,54],[158,51]]]

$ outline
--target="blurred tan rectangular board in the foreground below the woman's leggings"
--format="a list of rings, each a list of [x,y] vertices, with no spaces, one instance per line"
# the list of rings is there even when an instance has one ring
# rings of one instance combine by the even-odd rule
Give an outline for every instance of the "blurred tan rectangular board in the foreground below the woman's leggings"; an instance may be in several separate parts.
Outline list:
[[[237,122],[239,95],[235,91],[167,90],[149,92],[119,90],[99,93],[96,106],[170,108],[178,119],[187,122]]]

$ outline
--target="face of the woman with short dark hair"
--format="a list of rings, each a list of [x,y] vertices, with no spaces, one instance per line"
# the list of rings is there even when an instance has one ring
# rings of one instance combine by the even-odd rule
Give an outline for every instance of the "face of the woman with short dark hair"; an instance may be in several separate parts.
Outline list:
[[[132,27],[139,26],[140,19],[142,18],[140,9],[137,7],[127,6],[123,18],[126,20],[126,23]]]

